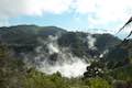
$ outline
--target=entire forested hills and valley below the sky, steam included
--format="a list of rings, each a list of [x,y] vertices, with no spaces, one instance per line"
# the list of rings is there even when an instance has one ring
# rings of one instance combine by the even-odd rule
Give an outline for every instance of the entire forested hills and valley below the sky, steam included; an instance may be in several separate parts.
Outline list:
[[[111,34],[0,28],[0,87],[132,88],[131,48]]]

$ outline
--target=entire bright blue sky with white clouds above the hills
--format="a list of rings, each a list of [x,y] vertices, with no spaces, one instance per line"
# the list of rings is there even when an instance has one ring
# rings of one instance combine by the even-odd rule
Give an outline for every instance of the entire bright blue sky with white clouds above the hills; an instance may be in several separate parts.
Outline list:
[[[131,15],[132,0],[0,0],[0,26],[55,25],[69,31],[116,34]]]

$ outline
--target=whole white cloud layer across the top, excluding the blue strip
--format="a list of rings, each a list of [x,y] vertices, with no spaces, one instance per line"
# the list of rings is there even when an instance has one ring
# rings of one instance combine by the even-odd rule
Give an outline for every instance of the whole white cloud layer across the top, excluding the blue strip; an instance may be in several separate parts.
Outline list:
[[[64,12],[85,14],[89,28],[114,33],[131,16],[132,0],[0,0],[1,24],[7,24],[9,18],[20,15]]]

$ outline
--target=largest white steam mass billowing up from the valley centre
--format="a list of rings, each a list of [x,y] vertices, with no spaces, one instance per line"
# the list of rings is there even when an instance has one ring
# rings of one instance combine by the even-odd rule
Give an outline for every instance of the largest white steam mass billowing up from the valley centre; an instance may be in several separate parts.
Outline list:
[[[36,48],[36,61],[40,62],[37,69],[46,73],[54,74],[59,72],[64,77],[78,77],[82,76],[86,72],[88,63],[84,58],[74,56],[68,47],[59,47],[57,44],[57,36],[48,36],[48,40],[42,42],[42,46]],[[43,46],[47,47],[48,52],[43,51]],[[51,57],[53,55],[53,57]]]

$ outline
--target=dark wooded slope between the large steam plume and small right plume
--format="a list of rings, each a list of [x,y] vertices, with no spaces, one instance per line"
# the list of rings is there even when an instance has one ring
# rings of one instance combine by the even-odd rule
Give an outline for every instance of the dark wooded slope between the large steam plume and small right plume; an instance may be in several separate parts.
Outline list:
[[[58,45],[68,46],[72,53],[78,57],[86,56],[91,58],[99,55],[99,51],[88,47],[88,34],[81,32],[67,32],[58,38]]]

